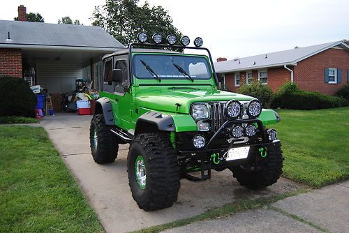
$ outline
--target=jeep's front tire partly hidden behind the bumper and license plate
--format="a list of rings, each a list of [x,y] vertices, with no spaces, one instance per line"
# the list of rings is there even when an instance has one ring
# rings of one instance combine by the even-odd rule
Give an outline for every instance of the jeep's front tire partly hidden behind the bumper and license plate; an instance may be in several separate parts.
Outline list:
[[[260,156],[259,154],[256,156]],[[250,189],[260,189],[271,186],[280,178],[283,168],[281,143],[277,143],[274,149],[267,151],[267,156],[262,159],[262,169],[257,172],[245,170],[241,166],[232,167],[232,175],[242,186]]]

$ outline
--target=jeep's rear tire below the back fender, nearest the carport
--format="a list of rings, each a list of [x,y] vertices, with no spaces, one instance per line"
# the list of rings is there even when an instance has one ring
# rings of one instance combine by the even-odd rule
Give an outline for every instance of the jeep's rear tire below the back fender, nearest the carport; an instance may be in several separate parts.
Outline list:
[[[91,120],[89,139],[94,161],[99,164],[112,163],[117,158],[119,144],[117,137],[110,131],[103,114],[96,114]]]

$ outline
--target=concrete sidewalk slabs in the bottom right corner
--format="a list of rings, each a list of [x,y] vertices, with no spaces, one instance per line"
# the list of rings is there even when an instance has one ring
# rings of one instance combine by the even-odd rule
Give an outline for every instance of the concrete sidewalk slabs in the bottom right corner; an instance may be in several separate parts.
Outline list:
[[[165,232],[349,232],[349,181]]]

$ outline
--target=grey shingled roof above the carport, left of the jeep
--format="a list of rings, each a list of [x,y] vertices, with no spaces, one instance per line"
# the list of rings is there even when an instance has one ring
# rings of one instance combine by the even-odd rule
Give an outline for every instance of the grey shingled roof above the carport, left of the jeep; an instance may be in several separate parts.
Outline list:
[[[8,31],[11,40],[6,40]],[[101,27],[0,20],[0,47],[115,50],[125,46]]]

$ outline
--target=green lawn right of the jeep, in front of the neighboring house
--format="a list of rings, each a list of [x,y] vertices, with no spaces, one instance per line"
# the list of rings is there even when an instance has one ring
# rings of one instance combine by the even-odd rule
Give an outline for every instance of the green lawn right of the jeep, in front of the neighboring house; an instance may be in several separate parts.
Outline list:
[[[284,176],[315,188],[349,178],[349,107],[276,112]]]

